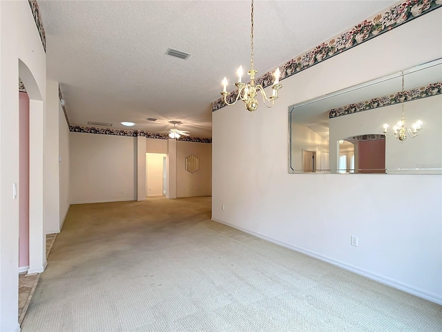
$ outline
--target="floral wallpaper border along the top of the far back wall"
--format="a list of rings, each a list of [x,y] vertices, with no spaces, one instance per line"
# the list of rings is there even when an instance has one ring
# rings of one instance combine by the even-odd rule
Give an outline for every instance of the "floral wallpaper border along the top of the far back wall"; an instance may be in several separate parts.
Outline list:
[[[111,128],[97,128],[97,127],[83,127],[78,125],[69,126],[69,131],[75,133],[99,133],[102,135],[115,135],[115,136],[129,136],[137,137],[144,136],[146,138],[155,138],[157,140],[169,140],[169,135],[164,133],[148,133],[144,130],[126,130],[126,129],[111,129]],[[179,140],[184,142],[200,142],[211,143],[211,138],[199,138],[199,137],[186,137],[182,136]]]

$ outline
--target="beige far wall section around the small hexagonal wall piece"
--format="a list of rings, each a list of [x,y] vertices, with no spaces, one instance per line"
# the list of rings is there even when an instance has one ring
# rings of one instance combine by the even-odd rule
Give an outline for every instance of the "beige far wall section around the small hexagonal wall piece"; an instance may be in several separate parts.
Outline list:
[[[200,159],[200,170],[186,171],[186,157]],[[177,140],[177,197],[212,195],[212,145]]]

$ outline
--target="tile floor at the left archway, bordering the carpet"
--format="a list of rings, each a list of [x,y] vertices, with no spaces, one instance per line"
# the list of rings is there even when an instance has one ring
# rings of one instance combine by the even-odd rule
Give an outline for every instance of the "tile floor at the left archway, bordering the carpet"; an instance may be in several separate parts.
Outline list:
[[[48,259],[49,252],[52,249],[56,237],[57,234],[46,234],[46,259]],[[19,274],[19,324],[23,322],[30,299],[34,294],[39,279],[39,273],[34,273],[32,275],[26,273]]]

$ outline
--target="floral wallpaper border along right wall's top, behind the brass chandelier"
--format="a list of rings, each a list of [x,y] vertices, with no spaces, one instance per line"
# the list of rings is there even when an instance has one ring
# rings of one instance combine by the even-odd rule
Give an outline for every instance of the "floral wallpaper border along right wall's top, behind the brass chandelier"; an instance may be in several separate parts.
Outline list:
[[[323,62],[330,57],[334,57],[339,53],[349,50],[350,48],[367,42],[378,35],[382,35],[387,31],[400,26],[420,15],[427,14],[432,10],[442,6],[442,0],[407,0],[396,3],[394,6],[387,9],[384,13],[374,15],[369,19],[361,22],[357,26],[341,33],[340,35],[329,39],[315,48],[307,50],[298,57],[289,60],[280,66],[281,77],[284,80],[291,75],[303,71],[319,62]],[[270,86],[273,82],[271,71],[261,75],[256,79],[256,84],[262,86]],[[228,97],[228,102],[233,102],[236,99],[237,91],[232,91]],[[222,97],[212,102],[212,111],[217,111],[225,107]]]

